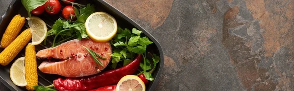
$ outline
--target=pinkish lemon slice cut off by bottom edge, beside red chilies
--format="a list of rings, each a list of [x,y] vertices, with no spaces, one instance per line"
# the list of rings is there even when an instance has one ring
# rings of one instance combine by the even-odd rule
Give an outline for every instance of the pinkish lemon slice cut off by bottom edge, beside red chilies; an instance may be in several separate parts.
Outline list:
[[[126,75],[117,84],[116,91],[145,91],[144,82],[136,75]]]

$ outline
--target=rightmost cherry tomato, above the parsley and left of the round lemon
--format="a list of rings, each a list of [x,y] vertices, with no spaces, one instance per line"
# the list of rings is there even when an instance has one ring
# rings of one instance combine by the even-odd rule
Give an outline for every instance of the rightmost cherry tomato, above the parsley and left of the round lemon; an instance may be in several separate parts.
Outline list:
[[[76,19],[74,14],[74,7],[72,8],[71,5],[65,6],[62,10],[62,15],[67,20],[74,20]]]

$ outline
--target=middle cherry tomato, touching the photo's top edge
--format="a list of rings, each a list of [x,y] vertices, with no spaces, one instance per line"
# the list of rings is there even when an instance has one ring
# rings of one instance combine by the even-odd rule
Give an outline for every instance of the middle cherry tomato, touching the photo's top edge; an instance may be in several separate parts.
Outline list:
[[[47,13],[54,15],[60,11],[60,2],[58,0],[48,0],[45,4]]]

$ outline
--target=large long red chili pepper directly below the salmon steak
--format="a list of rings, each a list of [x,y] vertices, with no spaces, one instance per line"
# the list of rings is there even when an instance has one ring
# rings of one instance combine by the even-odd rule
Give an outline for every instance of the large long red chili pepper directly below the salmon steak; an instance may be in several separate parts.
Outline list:
[[[79,78],[58,78],[53,81],[54,88],[58,91],[87,91],[116,84],[123,76],[134,74],[139,68],[142,58],[142,55],[137,55],[133,62],[122,68],[104,71],[96,75]]]

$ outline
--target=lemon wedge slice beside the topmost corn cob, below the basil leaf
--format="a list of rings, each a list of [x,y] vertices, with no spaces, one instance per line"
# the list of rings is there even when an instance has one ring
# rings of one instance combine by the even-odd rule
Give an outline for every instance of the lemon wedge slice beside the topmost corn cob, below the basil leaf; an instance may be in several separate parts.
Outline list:
[[[29,28],[31,29],[32,36],[32,45],[41,44],[47,33],[46,23],[38,17],[29,17],[26,18]]]

